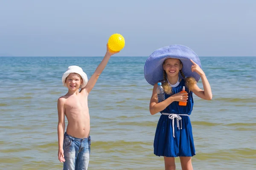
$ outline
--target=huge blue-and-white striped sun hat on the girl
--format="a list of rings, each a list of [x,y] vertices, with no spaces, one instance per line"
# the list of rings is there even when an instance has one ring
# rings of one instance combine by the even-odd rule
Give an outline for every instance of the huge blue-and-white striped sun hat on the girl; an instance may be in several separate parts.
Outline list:
[[[185,77],[194,77],[198,82],[200,75],[195,71],[191,71],[191,66],[193,64],[190,59],[197,63],[201,68],[200,59],[195,52],[184,45],[170,45],[157,49],[146,60],[144,76],[149,84],[154,85],[158,81],[163,80],[163,62],[167,58],[180,59],[183,64],[182,71]],[[183,78],[180,73],[179,77]]]

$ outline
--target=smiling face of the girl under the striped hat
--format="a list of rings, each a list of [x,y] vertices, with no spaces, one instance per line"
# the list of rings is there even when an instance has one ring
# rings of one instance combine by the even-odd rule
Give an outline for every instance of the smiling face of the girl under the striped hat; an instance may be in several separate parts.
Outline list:
[[[178,76],[181,68],[182,64],[179,59],[168,58],[163,62],[163,69],[170,77]]]

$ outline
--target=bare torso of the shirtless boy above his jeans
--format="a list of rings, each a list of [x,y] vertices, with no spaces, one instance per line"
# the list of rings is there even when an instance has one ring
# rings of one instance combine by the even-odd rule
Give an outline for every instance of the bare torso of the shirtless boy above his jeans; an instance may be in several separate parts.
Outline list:
[[[76,138],[87,138],[90,133],[90,115],[87,96],[80,93],[63,96],[67,117],[67,134]]]

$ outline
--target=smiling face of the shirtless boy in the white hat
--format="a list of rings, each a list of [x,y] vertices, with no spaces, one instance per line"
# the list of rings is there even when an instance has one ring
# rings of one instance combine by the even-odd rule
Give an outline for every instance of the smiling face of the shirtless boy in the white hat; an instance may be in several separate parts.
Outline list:
[[[71,91],[76,91],[79,89],[80,85],[83,83],[83,79],[79,74],[70,73],[66,78],[67,88]]]

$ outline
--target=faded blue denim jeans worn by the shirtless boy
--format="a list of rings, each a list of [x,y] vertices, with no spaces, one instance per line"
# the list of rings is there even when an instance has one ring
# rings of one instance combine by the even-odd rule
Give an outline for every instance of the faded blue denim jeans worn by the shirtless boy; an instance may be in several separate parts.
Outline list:
[[[74,138],[64,133],[63,170],[87,170],[90,158],[90,136],[88,138]]]

